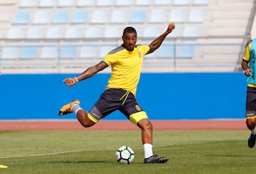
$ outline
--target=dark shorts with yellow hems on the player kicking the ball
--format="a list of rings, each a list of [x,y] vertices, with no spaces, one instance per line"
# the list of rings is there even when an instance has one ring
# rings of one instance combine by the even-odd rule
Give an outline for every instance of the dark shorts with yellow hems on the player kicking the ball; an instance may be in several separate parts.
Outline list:
[[[132,92],[114,88],[106,89],[100,95],[100,99],[88,112],[88,117],[96,123],[116,110],[122,112],[134,124],[137,124],[140,119],[147,118],[146,113],[139,106]]]

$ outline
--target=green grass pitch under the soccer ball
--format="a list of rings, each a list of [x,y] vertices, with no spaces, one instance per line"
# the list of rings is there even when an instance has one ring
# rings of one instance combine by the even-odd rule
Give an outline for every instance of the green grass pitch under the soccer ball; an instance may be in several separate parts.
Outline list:
[[[255,170],[249,131],[154,131],[164,164],[143,164],[140,131],[0,131],[0,173],[246,173]],[[114,153],[130,146],[134,162]]]

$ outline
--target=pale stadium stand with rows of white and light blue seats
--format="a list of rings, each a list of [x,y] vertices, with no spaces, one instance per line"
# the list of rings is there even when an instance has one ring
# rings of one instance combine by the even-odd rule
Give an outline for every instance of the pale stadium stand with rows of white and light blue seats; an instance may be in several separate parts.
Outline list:
[[[122,44],[126,26],[149,44],[171,22],[176,29],[146,55],[144,72],[233,72],[255,17],[255,0],[9,0],[0,7],[6,73],[81,72]]]

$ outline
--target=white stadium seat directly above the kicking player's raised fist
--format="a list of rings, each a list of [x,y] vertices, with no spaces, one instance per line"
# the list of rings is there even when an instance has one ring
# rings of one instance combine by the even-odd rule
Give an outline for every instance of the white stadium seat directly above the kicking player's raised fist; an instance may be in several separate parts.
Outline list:
[[[169,22],[185,23],[187,21],[187,11],[183,9],[173,9],[169,13]]]

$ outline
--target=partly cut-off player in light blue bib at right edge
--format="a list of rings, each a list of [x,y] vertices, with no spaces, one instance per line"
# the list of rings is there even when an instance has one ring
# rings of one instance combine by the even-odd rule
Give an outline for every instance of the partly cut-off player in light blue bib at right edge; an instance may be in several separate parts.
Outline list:
[[[242,58],[242,69],[247,76],[247,98],[246,98],[246,125],[251,134],[248,138],[248,146],[253,148],[256,140],[256,79],[255,79],[255,58],[256,38],[249,40],[245,46],[245,53]]]

